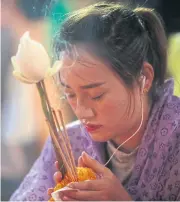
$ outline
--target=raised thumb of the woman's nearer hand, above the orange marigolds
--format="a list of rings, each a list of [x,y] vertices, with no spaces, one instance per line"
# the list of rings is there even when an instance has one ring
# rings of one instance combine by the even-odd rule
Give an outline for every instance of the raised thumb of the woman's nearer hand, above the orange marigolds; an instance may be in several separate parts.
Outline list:
[[[98,161],[90,157],[86,152],[82,153],[82,160],[85,166],[91,168],[95,173],[103,176],[109,176],[111,171]]]

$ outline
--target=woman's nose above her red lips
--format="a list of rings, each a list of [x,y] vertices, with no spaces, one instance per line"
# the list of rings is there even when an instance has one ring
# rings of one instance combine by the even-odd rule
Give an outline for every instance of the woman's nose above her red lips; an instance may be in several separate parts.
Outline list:
[[[92,108],[81,101],[77,101],[75,113],[79,119],[92,118],[95,115]]]

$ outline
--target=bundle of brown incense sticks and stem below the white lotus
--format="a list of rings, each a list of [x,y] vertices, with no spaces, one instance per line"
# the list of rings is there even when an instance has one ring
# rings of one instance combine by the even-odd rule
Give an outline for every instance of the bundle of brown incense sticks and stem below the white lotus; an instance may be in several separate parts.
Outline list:
[[[72,181],[78,181],[74,156],[62,113],[60,110],[58,110],[58,119],[55,110],[51,108],[44,81],[39,82],[37,87],[40,93],[43,111],[47,119],[47,124],[58,163],[60,164],[60,162],[63,162],[64,168],[67,174],[70,175],[69,177],[72,179]],[[64,132],[62,132],[61,126]]]

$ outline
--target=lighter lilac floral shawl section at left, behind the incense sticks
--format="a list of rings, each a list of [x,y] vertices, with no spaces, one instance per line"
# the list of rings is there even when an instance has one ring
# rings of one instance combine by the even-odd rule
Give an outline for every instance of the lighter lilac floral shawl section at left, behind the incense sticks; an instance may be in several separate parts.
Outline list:
[[[79,121],[69,124],[67,131],[76,164],[82,151],[86,151],[101,163],[105,161],[102,152],[103,144],[94,143],[94,149],[88,133],[80,125]],[[34,163],[18,190],[12,195],[10,201],[47,201],[47,189],[55,186],[53,181],[53,175],[56,171],[54,167],[55,161],[55,153],[49,137],[40,157]]]

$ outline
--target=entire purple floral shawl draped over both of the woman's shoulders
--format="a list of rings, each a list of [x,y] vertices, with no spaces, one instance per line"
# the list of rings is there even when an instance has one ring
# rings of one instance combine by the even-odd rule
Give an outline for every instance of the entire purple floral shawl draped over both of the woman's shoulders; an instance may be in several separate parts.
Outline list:
[[[180,200],[180,98],[173,96],[173,81],[165,83],[155,102],[138,150],[134,169],[124,185],[134,200]],[[105,162],[105,144],[93,142],[78,122],[68,126],[77,162],[86,151]],[[48,138],[32,169],[12,195],[12,201],[47,201],[53,187],[55,155]]]

